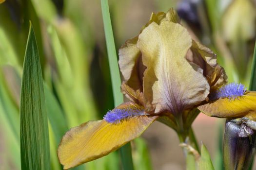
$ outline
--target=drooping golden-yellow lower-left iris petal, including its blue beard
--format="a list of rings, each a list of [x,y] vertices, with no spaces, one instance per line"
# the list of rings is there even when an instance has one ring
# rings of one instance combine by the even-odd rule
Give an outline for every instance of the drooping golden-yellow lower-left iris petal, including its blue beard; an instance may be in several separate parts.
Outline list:
[[[140,136],[157,118],[144,115],[142,106],[135,103],[121,104],[108,112],[106,120],[89,121],[68,131],[59,144],[59,161],[69,169],[107,155]]]

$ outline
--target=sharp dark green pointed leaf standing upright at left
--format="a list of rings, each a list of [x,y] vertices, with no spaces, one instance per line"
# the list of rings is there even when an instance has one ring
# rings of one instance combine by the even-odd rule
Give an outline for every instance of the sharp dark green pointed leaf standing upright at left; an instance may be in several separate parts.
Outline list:
[[[22,170],[50,170],[49,134],[44,102],[39,51],[30,23],[20,96]]]

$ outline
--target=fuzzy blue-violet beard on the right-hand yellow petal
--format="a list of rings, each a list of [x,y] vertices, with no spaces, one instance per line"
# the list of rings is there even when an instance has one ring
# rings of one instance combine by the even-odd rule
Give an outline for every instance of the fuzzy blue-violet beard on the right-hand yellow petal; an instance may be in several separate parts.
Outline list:
[[[244,95],[246,88],[242,84],[230,83],[223,85],[217,91],[209,95],[209,99],[214,101],[219,98],[229,98],[230,100],[235,100],[240,96]]]

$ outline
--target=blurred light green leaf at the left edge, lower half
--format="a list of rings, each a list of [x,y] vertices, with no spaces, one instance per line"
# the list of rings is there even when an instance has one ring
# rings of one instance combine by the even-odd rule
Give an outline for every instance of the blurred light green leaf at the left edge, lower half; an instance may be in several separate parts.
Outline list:
[[[7,94],[0,70],[0,169],[18,170],[20,167],[19,110]]]

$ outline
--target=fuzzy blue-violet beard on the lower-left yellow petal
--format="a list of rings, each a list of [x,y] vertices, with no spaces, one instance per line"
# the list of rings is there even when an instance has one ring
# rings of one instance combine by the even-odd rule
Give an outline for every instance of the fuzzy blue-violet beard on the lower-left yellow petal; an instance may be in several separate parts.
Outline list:
[[[103,117],[109,123],[119,123],[123,119],[127,119],[130,117],[141,116],[145,115],[144,110],[135,108],[135,107],[128,107],[128,108],[121,108],[121,109],[113,109],[112,111],[108,111],[107,114]]]

